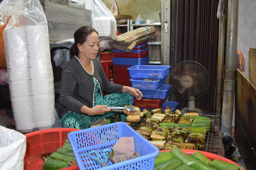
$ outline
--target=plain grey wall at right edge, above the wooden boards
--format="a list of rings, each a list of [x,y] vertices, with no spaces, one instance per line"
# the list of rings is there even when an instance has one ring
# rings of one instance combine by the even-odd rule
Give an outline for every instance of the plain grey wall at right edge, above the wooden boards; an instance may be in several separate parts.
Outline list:
[[[245,57],[245,71],[249,78],[249,52],[256,48],[256,1],[239,0],[237,49]]]

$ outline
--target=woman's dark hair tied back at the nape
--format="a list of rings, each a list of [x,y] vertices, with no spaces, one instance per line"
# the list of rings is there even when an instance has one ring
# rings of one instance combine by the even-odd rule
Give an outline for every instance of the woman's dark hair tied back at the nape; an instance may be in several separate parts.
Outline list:
[[[73,56],[77,56],[79,53],[79,49],[77,47],[77,44],[83,45],[84,42],[87,40],[87,37],[92,33],[96,32],[98,35],[99,33],[92,27],[89,26],[83,26],[81,28],[78,28],[76,32],[74,33],[74,40],[75,43],[70,48],[70,58]]]

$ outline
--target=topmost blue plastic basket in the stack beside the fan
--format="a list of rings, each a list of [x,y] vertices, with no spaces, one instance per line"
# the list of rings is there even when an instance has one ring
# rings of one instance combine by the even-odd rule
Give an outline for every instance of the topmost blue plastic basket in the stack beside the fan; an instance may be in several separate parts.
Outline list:
[[[169,75],[170,67],[168,65],[134,65],[127,70],[131,78],[164,79]]]

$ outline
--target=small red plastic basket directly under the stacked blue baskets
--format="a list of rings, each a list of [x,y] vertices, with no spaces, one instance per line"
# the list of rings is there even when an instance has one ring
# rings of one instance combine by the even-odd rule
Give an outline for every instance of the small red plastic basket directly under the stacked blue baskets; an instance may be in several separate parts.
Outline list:
[[[138,101],[136,98],[133,98],[134,104],[137,107],[142,107],[142,108],[160,108],[164,101],[166,100],[163,99],[148,99],[148,98],[142,98],[140,101]]]

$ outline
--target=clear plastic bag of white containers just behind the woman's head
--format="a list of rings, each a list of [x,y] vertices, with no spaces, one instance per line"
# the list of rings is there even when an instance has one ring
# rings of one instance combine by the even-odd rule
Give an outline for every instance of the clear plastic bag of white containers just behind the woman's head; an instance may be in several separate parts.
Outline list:
[[[116,19],[101,0],[93,0],[91,14],[92,28],[99,33],[100,51],[111,49],[108,41],[116,39]],[[103,40],[104,43],[103,43]]]

